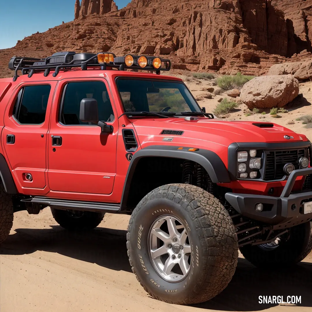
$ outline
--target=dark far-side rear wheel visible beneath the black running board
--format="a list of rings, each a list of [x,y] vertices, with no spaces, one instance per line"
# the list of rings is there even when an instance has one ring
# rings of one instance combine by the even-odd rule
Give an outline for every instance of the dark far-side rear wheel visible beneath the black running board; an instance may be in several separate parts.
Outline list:
[[[66,230],[91,230],[97,227],[104,218],[103,212],[78,210],[61,210],[51,208],[55,221]]]

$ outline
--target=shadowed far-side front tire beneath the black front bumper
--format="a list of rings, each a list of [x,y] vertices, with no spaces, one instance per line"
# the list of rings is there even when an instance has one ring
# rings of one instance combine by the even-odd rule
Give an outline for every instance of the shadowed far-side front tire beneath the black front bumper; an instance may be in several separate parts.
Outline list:
[[[276,269],[302,261],[312,250],[312,222],[290,229],[288,241],[280,241],[275,249],[261,249],[259,246],[242,246],[242,255],[254,266]]]

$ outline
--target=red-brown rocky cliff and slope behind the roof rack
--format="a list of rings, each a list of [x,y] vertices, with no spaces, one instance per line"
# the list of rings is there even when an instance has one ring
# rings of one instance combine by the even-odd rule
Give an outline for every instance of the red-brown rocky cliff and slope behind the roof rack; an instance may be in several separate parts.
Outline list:
[[[132,0],[120,10],[113,0],[72,1],[74,21],[0,51],[0,65],[17,54],[110,50],[160,55],[177,70],[259,76],[287,57],[312,57],[312,0]]]

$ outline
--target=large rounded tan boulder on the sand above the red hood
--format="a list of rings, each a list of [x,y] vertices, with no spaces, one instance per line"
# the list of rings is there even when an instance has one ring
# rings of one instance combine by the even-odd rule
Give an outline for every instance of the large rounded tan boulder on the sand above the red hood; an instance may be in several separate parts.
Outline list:
[[[261,76],[241,89],[240,100],[249,109],[283,107],[299,94],[298,80],[292,75]]]

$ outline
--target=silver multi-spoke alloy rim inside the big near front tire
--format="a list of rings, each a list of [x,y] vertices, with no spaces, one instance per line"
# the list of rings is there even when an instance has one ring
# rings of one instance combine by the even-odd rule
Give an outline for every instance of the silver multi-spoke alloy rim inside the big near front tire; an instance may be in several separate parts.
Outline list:
[[[179,282],[191,267],[188,231],[176,217],[158,218],[149,231],[149,256],[157,273],[168,282]]]

